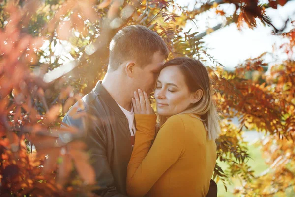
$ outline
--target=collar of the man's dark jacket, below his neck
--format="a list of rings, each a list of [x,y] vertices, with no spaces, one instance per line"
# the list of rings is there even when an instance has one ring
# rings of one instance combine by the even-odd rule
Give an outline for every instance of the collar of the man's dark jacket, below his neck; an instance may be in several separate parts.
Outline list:
[[[103,87],[101,82],[102,81],[98,81],[93,90],[101,96],[101,98],[107,103],[107,105],[109,105],[109,107],[113,111],[115,111],[119,116],[126,118],[124,112],[120,109],[117,102],[113,99],[109,92]]]

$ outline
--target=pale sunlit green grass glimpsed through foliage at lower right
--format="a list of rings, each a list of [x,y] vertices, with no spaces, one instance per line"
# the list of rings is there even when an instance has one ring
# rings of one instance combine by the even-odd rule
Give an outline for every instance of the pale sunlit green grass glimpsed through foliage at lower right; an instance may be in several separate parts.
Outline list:
[[[248,149],[249,155],[252,159],[249,159],[247,164],[252,167],[252,170],[254,170],[254,175],[259,175],[264,170],[266,170],[268,166],[265,164],[264,159],[262,158],[262,153],[259,147],[255,146],[254,144],[249,144]],[[224,170],[227,168],[226,164],[220,164],[220,166]],[[240,185],[240,182],[236,178],[232,178],[231,181],[233,182],[233,185],[227,185],[227,192],[225,191],[224,185],[221,181],[217,183],[218,197],[236,197],[233,195],[233,190],[235,186]]]

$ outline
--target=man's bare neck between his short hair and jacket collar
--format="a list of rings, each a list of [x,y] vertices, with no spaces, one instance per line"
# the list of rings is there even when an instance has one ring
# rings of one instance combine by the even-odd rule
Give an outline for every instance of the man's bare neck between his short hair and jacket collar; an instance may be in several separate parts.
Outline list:
[[[129,98],[125,83],[120,83],[122,81],[120,79],[121,76],[117,73],[107,73],[102,80],[102,85],[120,106],[131,111],[131,98]]]

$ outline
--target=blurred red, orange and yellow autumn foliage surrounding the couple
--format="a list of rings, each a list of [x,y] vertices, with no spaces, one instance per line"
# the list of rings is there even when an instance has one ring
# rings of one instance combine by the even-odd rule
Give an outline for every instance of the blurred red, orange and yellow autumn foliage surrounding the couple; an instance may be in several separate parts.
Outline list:
[[[214,179],[226,187],[230,177],[239,178],[243,186],[235,193],[249,197],[274,196],[294,187],[295,29],[282,33],[284,27],[275,28],[265,13],[286,2],[197,1],[189,9],[173,0],[0,0],[1,195],[94,196],[95,177],[79,131],[61,129],[60,124],[64,113],[103,78],[111,38],[131,24],[156,31],[169,47],[168,59],[187,56],[211,65],[218,90],[214,97],[223,117]],[[234,4],[235,12],[222,10],[219,5],[224,3]],[[207,54],[200,34],[184,32],[188,21],[208,10],[239,28],[255,28],[257,19],[272,26],[276,36],[289,40],[277,49],[289,59],[268,68],[268,74],[266,53],[234,71],[225,70]],[[231,122],[234,117],[239,128]],[[255,176],[247,164],[243,128],[265,133],[261,144],[271,167],[262,175]],[[223,171],[220,162],[230,170]],[[74,169],[79,177],[69,179]]]

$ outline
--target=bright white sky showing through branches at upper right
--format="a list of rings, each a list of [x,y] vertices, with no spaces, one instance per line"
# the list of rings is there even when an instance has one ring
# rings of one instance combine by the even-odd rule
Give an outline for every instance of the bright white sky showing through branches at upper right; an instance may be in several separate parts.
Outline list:
[[[190,5],[195,0],[175,0],[179,5]],[[263,3],[268,2],[263,0]],[[232,12],[233,5],[222,5],[221,8],[226,12]],[[278,6],[278,9],[268,8],[266,14],[270,16],[275,27],[280,29],[283,26],[283,21],[287,18],[295,20],[295,0],[287,2],[283,7]],[[214,11],[207,11],[207,13],[196,18],[196,24],[188,23],[186,29],[192,28],[192,31],[203,32],[208,27],[214,27],[222,21],[221,17],[216,17]],[[208,16],[211,19],[207,19]],[[287,26],[286,31],[292,27]],[[293,27],[295,28],[295,27]],[[245,24],[244,28],[239,31],[236,24],[232,23],[227,27],[214,31],[204,37],[205,46],[210,48],[207,53],[213,56],[218,62],[228,69],[233,69],[238,64],[242,63],[248,58],[255,58],[263,52],[272,52],[273,46],[279,46],[286,42],[286,39],[271,34],[272,28],[264,26],[258,21],[257,28],[249,29]],[[287,59],[284,53],[278,53],[277,56],[280,60]],[[266,62],[272,62],[272,59],[266,59]]]

